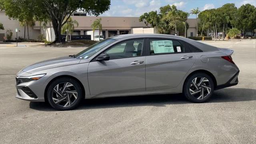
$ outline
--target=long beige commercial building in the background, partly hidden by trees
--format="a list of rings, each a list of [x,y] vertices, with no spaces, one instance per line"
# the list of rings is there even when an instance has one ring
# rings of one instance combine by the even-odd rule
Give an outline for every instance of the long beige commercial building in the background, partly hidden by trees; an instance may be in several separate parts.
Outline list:
[[[132,33],[156,33],[155,28],[146,29],[144,22],[139,22],[139,17],[105,17],[105,16],[86,16],[85,14],[73,14],[72,19],[78,22],[78,27],[75,27],[72,35],[92,35],[91,25],[94,20],[101,18],[102,21],[102,33],[101,35],[104,38],[118,34],[132,34]],[[6,30],[10,29],[13,32],[12,40],[16,39],[15,29],[18,28],[18,39],[24,38],[24,26],[20,26],[18,20],[9,19],[5,15],[4,11],[0,11],[0,22],[4,26],[4,30],[0,30],[0,41],[3,40],[3,36],[6,36]],[[190,27],[188,28],[188,36],[196,36],[196,20],[188,19]],[[42,27],[41,27],[42,28]],[[52,41],[55,39],[54,30],[50,28],[50,25],[47,26],[47,30],[41,30],[42,34],[45,35],[46,40]],[[40,24],[36,22],[35,26],[29,26],[29,37],[30,39],[38,39],[40,35]],[[28,32],[26,28],[26,36],[28,37]]]

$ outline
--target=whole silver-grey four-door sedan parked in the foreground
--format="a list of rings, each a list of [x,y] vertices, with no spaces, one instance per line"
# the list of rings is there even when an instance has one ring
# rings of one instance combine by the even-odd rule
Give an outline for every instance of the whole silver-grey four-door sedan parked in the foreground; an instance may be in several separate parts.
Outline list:
[[[238,84],[233,50],[164,34],[125,34],[76,55],[27,66],[16,76],[16,98],[57,110],[82,99],[148,94],[206,102],[214,90]]]

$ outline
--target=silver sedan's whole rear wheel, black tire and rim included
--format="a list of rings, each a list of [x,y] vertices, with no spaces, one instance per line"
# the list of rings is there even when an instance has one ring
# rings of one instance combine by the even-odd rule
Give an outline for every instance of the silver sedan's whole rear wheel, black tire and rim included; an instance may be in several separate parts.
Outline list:
[[[206,102],[212,96],[214,83],[205,73],[195,73],[186,79],[183,86],[183,95],[191,102]]]

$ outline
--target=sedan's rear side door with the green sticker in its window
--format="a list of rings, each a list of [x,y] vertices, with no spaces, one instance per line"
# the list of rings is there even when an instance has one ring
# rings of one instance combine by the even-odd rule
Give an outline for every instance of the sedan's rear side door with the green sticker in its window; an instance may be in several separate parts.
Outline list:
[[[179,40],[147,39],[146,90],[178,86],[196,62],[196,55]]]

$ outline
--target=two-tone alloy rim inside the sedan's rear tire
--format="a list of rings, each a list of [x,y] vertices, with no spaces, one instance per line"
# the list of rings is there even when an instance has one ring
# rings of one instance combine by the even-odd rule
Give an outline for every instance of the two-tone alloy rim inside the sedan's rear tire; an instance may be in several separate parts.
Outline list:
[[[211,84],[205,77],[196,77],[190,82],[190,94],[198,100],[202,100],[209,96],[211,92]]]

